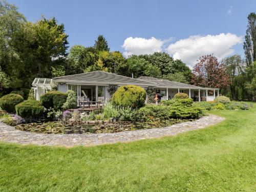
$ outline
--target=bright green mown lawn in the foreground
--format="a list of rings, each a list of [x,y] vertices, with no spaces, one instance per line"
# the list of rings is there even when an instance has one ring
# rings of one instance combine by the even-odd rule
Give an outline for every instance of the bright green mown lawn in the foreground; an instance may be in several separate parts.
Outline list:
[[[256,191],[256,103],[175,137],[95,147],[0,144],[0,191]]]

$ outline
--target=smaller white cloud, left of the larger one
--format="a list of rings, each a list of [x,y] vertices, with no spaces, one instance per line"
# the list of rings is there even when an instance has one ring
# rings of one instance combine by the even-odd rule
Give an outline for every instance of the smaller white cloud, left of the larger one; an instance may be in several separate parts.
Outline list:
[[[128,37],[124,40],[122,48],[124,49],[124,56],[140,55],[140,54],[152,54],[154,52],[162,51],[162,46],[165,43],[164,40],[142,37]]]

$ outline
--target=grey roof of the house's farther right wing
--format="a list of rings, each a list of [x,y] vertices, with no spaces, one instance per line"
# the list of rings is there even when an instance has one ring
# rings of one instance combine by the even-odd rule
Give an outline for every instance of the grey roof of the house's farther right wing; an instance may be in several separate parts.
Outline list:
[[[169,81],[169,80],[164,80],[164,79],[158,79],[158,78],[155,78],[155,77],[142,76],[142,77],[139,77],[138,79],[145,80],[145,81],[148,81],[148,82],[155,82],[155,83],[158,84],[158,86],[156,86],[156,87],[204,89],[204,88],[197,87],[197,86],[191,86],[190,84],[185,84],[185,83],[175,82],[175,81]]]

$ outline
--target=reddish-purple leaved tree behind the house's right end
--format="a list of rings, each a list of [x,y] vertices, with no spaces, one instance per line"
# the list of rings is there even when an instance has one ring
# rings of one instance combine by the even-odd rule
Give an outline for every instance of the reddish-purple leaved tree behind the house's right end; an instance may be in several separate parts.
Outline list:
[[[205,55],[194,66],[191,83],[208,88],[225,88],[229,86],[230,77],[226,73],[226,67],[215,56]]]

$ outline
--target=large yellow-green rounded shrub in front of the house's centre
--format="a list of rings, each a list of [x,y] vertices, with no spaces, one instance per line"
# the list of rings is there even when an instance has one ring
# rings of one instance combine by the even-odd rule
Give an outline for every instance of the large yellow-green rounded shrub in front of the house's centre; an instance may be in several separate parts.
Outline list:
[[[112,102],[116,106],[140,108],[146,100],[146,92],[138,86],[122,86],[114,93]]]

